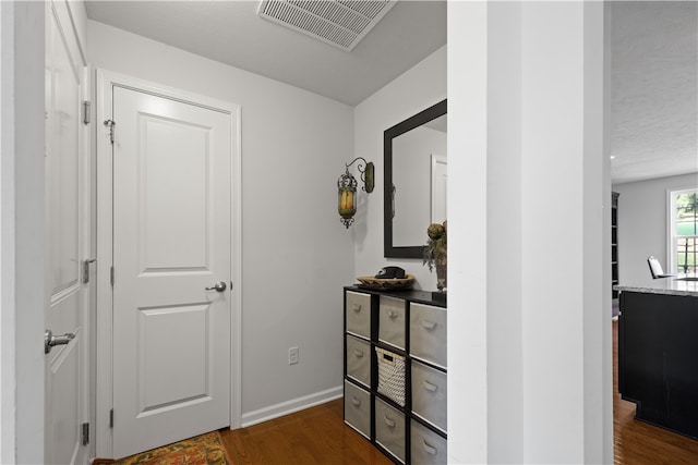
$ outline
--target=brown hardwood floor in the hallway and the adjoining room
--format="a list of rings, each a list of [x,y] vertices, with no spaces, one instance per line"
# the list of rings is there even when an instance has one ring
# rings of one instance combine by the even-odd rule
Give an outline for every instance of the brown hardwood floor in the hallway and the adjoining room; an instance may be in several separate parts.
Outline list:
[[[616,465],[696,465],[698,441],[635,419],[617,389],[617,322],[613,322],[613,428]],[[390,464],[342,421],[342,402],[234,431],[222,440],[234,465]]]

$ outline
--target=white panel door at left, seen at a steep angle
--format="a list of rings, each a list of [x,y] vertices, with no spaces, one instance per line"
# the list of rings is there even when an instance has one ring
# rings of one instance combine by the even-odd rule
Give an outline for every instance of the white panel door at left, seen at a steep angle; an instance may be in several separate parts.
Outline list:
[[[88,252],[84,207],[88,193],[81,171],[84,68],[61,8],[65,7],[46,2],[45,320],[55,335],[71,336],[45,355],[45,463],[84,464],[88,455],[81,432],[88,418],[86,285],[80,276],[81,259]]]

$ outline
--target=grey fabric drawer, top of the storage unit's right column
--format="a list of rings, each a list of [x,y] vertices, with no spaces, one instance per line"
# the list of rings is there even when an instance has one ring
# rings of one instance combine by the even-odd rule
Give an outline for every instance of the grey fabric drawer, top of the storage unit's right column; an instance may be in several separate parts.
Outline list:
[[[446,368],[446,309],[412,303],[410,355]]]

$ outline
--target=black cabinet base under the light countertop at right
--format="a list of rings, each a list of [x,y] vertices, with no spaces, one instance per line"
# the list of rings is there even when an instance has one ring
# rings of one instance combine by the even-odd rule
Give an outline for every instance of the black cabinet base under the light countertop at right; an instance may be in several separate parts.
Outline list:
[[[698,438],[698,296],[621,293],[618,391],[637,419]]]

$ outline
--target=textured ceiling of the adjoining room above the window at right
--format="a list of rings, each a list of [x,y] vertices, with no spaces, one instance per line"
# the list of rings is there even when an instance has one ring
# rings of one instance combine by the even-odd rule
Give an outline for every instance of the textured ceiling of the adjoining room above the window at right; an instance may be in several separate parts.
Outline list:
[[[614,183],[698,172],[698,3],[614,2]]]

